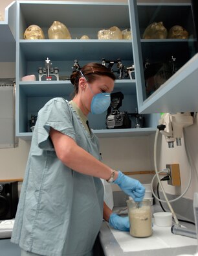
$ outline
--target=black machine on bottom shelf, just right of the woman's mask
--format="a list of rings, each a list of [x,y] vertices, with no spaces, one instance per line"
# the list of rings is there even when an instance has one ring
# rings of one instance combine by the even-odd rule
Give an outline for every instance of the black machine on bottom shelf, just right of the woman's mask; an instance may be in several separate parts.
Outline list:
[[[111,105],[107,109],[106,125],[107,129],[131,128],[131,120],[127,112],[120,112],[124,95],[122,92],[111,94]]]

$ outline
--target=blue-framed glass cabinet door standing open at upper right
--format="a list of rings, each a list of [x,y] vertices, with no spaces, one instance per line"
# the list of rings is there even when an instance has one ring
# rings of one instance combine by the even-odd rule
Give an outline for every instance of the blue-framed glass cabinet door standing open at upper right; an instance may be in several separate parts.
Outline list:
[[[145,1],[146,2],[146,1]],[[133,56],[136,67],[137,101],[141,113],[186,112],[198,110],[198,55],[196,11],[192,1],[182,3],[137,3],[129,1],[131,28],[133,29]],[[143,39],[146,27],[162,21],[169,31],[173,25],[181,25],[188,31],[186,39]],[[146,84],[146,59],[150,64],[169,62],[176,58],[175,73],[156,88],[148,92]],[[152,81],[155,85],[156,81]]]

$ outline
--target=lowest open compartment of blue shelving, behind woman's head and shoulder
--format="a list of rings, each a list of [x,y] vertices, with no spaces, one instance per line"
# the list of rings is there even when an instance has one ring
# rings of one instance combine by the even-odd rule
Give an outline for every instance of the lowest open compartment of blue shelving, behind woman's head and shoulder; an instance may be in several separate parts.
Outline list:
[[[70,81],[21,81],[16,88],[18,99],[16,109],[19,109],[19,123],[17,123],[19,131],[17,136],[24,140],[31,138],[32,133],[29,133],[28,120],[30,120],[32,114],[37,115],[38,110],[53,97],[64,97],[71,100],[72,92],[74,92]],[[135,105],[137,104],[135,80],[116,80],[114,92],[124,94],[124,110],[133,112],[134,109],[135,112]],[[89,120],[93,129],[104,129],[105,116],[105,113],[102,116],[100,115],[99,118],[95,115],[90,116]]]

